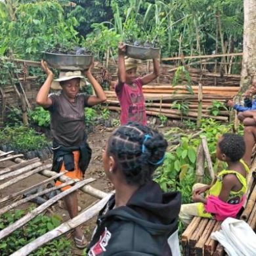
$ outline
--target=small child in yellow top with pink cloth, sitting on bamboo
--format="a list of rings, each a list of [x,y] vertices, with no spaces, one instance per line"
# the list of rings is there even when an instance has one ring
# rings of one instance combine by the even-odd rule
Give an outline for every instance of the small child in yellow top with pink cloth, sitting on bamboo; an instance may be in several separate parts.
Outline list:
[[[235,218],[245,200],[247,189],[246,175],[249,167],[242,157],[245,142],[242,136],[225,133],[218,141],[216,156],[225,161],[228,168],[217,175],[213,185],[195,184],[192,200],[194,203],[181,205],[179,217],[187,226],[194,216],[223,221],[227,217]],[[205,196],[203,196],[203,194]]]

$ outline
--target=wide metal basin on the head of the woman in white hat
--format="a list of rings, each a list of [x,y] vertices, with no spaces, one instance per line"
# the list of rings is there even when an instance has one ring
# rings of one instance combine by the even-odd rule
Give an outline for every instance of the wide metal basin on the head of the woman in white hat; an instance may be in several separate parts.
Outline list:
[[[58,70],[86,70],[93,62],[93,55],[72,55],[43,52],[47,63]]]

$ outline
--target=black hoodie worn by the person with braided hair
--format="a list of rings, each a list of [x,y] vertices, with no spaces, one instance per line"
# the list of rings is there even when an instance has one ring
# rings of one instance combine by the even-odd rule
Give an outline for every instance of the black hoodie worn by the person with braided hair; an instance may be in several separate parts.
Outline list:
[[[127,205],[113,209],[114,205],[112,196],[98,215],[89,256],[171,255],[167,239],[177,230],[179,192],[163,193],[156,182],[150,181]]]

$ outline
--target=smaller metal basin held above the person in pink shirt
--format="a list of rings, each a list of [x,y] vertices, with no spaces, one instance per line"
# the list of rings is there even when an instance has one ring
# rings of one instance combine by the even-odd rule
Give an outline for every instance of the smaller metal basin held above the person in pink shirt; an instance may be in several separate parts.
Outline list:
[[[126,45],[126,53],[130,58],[138,58],[140,60],[149,60],[152,58],[159,58],[160,48],[146,48],[134,45]]]

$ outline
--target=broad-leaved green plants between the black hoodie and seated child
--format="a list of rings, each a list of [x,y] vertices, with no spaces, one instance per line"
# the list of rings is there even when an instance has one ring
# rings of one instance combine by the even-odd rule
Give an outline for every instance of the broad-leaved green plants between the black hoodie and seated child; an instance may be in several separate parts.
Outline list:
[[[202,120],[200,137],[205,136],[207,138],[215,173],[226,167],[226,163],[217,160],[215,156],[217,140],[223,133],[228,133],[231,130],[232,125],[222,124],[213,119]],[[181,133],[179,128],[170,129],[165,137],[167,140],[174,140],[177,133]],[[242,133],[242,129],[239,133]],[[196,149],[200,144],[200,137],[192,139],[191,135],[182,134],[179,137],[181,146],[173,152],[167,152],[163,165],[156,173],[156,181],[163,190],[179,190],[182,192],[183,203],[191,202],[192,184],[196,181]],[[207,166],[205,166],[205,173],[207,174]],[[207,176],[205,177],[205,182],[207,182]]]

